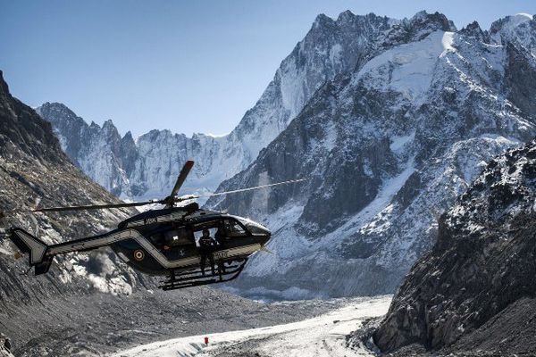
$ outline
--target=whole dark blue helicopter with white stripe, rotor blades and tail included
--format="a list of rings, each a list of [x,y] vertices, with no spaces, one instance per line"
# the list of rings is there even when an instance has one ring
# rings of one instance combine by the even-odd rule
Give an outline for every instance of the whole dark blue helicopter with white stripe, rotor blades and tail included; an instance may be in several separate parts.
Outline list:
[[[35,275],[45,274],[56,255],[88,252],[110,246],[121,261],[127,263],[132,269],[149,275],[163,276],[158,286],[163,290],[222,283],[238,278],[247,260],[253,254],[267,251],[265,245],[272,237],[272,232],[253,220],[226,212],[201,209],[196,202],[182,206],[178,206],[178,203],[200,197],[230,195],[287,185],[305,179],[293,179],[210,195],[177,196],[193,166],[193,161],[184,164],[171,195],[161,200],[32,210],[32,212],[65,212],[163,204],[163,208],[141,212],[121,221],[116,229],[104,234],[56,245],[46,245],[26,230],[13,227],[9,229],[7,237],[21,251],[15,254],[16,257],[21,257],[22,254],[29,255],[29,269],[33,267]],[[197,239],[203,235],[204,231],[208,231],[217,242],[210,251],[214,265],[206,273],[202,262],[203,253],[197,246]],[[217,270],[214,266],[217,266]]]

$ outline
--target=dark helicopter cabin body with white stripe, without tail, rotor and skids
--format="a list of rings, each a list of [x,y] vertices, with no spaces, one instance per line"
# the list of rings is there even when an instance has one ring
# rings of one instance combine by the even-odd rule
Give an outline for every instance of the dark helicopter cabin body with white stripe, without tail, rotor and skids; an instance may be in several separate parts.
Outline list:
[[[201,261],[197,239],[203,229],[209,229],[216,241],[211,253],[219,264],[247,259],[271,237],[270,230],[242,217],[179,208],[140,213],[108,235],[129,237],[111,245],[123,262],[147,274],[167,275],[170,270],[197,269]]]

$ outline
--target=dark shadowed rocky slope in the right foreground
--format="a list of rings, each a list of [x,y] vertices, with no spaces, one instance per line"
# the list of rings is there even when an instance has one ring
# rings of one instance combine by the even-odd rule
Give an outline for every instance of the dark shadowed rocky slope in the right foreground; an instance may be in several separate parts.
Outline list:
[[[536,295],[534,202],[536,141],[492,160],[441,217],[437,243],[400,286],[376,345],[439,349],[462,338],[465,349],[526,350],[504,341],[533,333],[521,311],[532,313]]]

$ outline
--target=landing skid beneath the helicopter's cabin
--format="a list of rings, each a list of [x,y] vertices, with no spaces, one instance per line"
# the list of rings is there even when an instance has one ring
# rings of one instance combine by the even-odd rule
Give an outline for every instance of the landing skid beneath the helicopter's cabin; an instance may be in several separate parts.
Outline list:
[[[209,284],[223,283],[239,277],[240,272],[246,266],[247,258],[226,266],[225,271],[220,265],[216,266],[215,274],[212,273],[210,266],[205,269],[205,275],[199,270],[191,270],[182,273],[175,273],[169,278],[163,280],[162,285],[158,286],[162,290],[175,290],[191,286],[203,286]]]

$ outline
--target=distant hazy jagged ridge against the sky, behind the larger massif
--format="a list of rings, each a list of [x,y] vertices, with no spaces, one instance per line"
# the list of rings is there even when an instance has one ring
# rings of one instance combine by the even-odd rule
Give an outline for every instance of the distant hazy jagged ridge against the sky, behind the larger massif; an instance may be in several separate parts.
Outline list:
[[[326,80],[362,66],[378,48],[388,46],[382,34],[391,25],[392,20],[372,13],[343,12],[336,21],[319,15],[255,106],[223,137],[152,130],[134,140],[130,132],[121,137],[112,121],[102,128],[88,125],[63,104],[46,103],[38,112],[53,124],[71,161],[114,195],[168,195],[188,159],[196,166],[185,189],[214,191],[224,179],[247,168]]]

